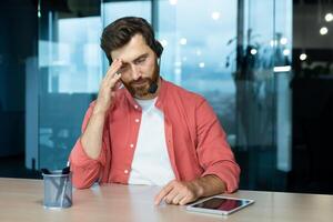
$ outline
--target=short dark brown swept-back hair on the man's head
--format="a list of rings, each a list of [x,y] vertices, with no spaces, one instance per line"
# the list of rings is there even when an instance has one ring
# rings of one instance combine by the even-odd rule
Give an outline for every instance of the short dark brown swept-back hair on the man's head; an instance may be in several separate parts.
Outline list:
[[[150,23],[138,17],[120,18],[104,28],[101,37],[101,48],[104,51],[109,63],[112,63],[111,51],[119,49],[130,42],[132,37],[140,33],[145,43],[160,58],[162,46],[155,40],[154,32]]]

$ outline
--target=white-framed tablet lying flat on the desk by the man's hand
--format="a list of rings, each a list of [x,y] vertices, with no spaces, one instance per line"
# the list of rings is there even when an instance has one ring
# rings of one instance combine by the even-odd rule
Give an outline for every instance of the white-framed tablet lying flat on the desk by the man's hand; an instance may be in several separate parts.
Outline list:
[[[186,210],[202,213],[228,215],[252,203],[254,203],[254,200],[215,195],[192,203],[186,206]]]

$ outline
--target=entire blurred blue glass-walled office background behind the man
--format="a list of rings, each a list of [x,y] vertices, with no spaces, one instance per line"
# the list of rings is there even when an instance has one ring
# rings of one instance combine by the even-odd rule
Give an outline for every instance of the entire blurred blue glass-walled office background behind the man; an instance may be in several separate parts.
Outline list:
[[[161,74],[203,94],[241,189],[333,193],[333,1],[0,1],[0,176],[59,169],[97,97],[107,24],[150,21]]]

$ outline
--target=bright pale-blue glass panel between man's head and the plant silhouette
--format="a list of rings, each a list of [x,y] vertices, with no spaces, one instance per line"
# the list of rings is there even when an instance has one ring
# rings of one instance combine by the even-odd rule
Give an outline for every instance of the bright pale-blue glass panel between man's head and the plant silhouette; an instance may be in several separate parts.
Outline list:
[[[161,74],[204,95],[229,140],[235,138],[236,1],[159,1],[158,39],[164,46]],[[195,13],[193,13],[195,11]]]

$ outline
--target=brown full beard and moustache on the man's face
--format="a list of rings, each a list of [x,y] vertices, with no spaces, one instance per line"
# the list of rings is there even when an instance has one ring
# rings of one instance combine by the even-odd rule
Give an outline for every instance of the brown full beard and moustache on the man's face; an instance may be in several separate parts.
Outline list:
[[[128,83],[123,83],[124,87],[129,90],[129,92],[134,98],[144,98],[145,95],[150,94],[149,88],[152,82],[158,82],[158,79],[160,77],[160,68],[158,63],[154,65],[153,75],[152,78],[140,78],[138,80],[133,80]],[[138,84],[140,82],[140,84]]]

